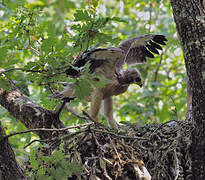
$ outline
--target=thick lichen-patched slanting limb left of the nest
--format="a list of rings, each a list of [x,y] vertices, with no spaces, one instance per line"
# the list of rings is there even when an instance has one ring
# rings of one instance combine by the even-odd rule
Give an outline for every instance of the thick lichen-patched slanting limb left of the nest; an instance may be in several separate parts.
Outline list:
[[[10,92],[0,89],[0,105],[28,129],[64,127],[56,113],[36,105],[18,89],[13,89]],[[48,131],[37,132],[42,139],[52,137],[51,133]]]

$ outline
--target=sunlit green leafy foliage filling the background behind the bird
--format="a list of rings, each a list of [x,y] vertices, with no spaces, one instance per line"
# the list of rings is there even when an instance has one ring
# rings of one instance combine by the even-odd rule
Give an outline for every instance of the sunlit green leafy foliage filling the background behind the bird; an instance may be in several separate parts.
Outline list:
[[[115,97],[115,118],[137,125],[160,123],[185,117],[185,68],[169,1],[166,0],[4,0],[0,3],[0,87],[8,89],[12,79],[35,103],[54,110],[60,102],[49,99],[62,90],[57,82],[74,82],[79,96],[89,92],[89,74],[79,80],[63,73],[73,58],[87,48],[117,46],[124,39],[146,33],[164,34],[168,44],[161,55],[137,65],[143,88],[131,86]],[[13,70],[15,68],[16,70]],[[61,114],[66,125],[83,123],[69,109],[81,113],[87,108],[75,100]],[[7,131],[25,127],[0,107],[0,119]],[[102,117],[102,119],[104,119]],[[10,139],[19,161],[29,155],[23,147],[35,135]],[[34,145],[35,146],[35,145]]]

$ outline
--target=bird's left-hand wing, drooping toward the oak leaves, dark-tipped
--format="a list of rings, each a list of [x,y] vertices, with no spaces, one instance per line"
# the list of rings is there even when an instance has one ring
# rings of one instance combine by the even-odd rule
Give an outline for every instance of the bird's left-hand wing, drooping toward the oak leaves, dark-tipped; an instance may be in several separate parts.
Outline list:
[[[66,74],[71,77],[78,77],[80,72],[75,69],[84,67],[90,63],[89,72],[101,75],[104,79],[115,79],[115,67],[120,59],[124,59],[124,51],[120,48],[99,48],[89,53],[83,53],[78,57],[73,66],[66,70]]]

